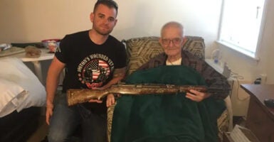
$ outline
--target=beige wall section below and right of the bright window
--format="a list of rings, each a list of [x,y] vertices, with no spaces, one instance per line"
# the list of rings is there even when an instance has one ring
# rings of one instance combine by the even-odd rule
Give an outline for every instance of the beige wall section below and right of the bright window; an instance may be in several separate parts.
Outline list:
[[[263,26],[262,39],[260,40],[260,50],[258,50],[259,60],[254,60],[241,53],[225,48],[222,45],[216,45],[222,50],[223,62],[227,62],[231,69],[245,77],[245,80],[254,81],[260,74],[267,75],[267,84],[274,84],[274,18],[272,9],[274,1],[265,0],[267,2],[267,11]],[[251,29],[252,30],[252,29]]]

